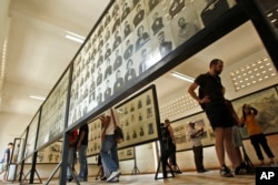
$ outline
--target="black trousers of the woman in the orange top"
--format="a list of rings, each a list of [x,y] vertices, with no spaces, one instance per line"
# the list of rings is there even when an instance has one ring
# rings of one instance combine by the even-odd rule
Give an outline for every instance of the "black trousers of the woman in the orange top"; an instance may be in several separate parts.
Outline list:
[[[264,160],[264,155],[261,153],[260,146],[264,148],[264,151],[266,152],[269,158],[275,157],[274,153],[271,152],[271,150],[269,148],[267,144],[267,138],[265,134],[251,135],[250,141],[259,160]]]

